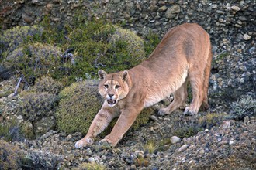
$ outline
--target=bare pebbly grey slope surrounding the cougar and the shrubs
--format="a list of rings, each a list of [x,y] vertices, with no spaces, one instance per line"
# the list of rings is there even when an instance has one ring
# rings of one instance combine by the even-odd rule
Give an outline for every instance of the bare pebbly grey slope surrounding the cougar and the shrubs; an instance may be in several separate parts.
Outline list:
[[[67,135],[56,130],[48,131],[36,140],[16,138],[11,144],[0,141],[0,165],[23,169],[86,169],[86,163],[92,162],[89,164],[94,166],[92,169],[256,168],[256,113],[254,107],[246,110],[248,105],[256,105],[254,0],[12,0],[0,1],[0,4],[2,29],[34,25],[44,16],[62,29],[64,23],[71,22],[81,9],[88,18],[106,17],[140,36],[150,31],[163,36],[171,26],[197,22],[209,32],[213,43],[209,82],[211,108],[207,113],[200,112],[192,117],[183,116],[182,110],[164,117],[154,114],[143,127],[128,131],[116,148],[99,146],[101,136],[95,145],[76,149],[74,142],[82,137],[81,133]],[[15,84],[13,79],[3,80],[0,84],[1,116],[5,110],[12,116],[17,107],[19,96],[5,97],[5,93],[14,90]],[[165,103],[168,100],[159,105]],[[19,134],[12,135],[19,137]],[[2,138],[2,134],[0,136]],[[175,138],[177,141],[172,141],[173,136],[179,137]],[[13,148],[13,151],[7,148]],[[15,158],[13,153],[16,151],[26,158],[19,159],[18,155]],[[9,158],[18,161],[10,162]]]

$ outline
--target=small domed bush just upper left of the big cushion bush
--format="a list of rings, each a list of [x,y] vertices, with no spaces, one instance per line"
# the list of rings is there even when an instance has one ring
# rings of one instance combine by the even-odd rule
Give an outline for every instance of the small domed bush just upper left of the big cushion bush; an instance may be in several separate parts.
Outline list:
[[[33,86],[33,91],[35,92],[47,92],[52,94],[58,94],[63,88],[61,82],[54,80],[50,76],[43,76],[40,79],[36,80],[35,85]]]

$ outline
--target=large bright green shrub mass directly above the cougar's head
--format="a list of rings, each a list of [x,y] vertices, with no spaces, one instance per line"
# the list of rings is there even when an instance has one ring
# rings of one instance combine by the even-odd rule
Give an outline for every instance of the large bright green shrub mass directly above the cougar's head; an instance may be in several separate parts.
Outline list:
[[[66,46],[74,49],[71,79],[95,76],[99,69],[109,73],[128,70],[145,59],[144,41],[135,33],[102,20],[81,23],[67,35]]]

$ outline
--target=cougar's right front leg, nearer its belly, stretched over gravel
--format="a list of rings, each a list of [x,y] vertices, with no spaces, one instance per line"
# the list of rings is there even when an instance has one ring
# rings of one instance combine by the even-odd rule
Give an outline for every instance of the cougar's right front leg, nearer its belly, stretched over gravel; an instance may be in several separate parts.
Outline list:
[[[118,141],[123,138],[123,134],[128,131],[133,122],[136,120],[137,116],[140,114],[140,111],[143,109],[143,106],[136,108],[128,108],[123,110],[120,114],[118,120],[111,133],[107,135],[102,141],[100,141],[101,145],[111,145],[112,147],[116,146]]]

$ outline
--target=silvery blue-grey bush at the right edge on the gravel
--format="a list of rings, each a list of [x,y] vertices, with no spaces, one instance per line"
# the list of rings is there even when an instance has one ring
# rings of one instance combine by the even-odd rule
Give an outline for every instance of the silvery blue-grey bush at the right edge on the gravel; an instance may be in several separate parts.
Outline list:
[[[256,116],[256,99],[251,95],[243,96],[236,102],[230,104],[231,117],[242,120],[244,117]]]

